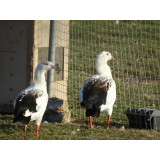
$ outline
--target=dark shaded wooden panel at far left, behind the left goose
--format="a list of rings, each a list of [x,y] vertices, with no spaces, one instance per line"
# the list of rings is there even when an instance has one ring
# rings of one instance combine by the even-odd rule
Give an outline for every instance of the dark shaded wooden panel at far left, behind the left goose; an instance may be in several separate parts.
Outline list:
[[[27,82],[27,23],[0,21],[0,104],[12,104]]]

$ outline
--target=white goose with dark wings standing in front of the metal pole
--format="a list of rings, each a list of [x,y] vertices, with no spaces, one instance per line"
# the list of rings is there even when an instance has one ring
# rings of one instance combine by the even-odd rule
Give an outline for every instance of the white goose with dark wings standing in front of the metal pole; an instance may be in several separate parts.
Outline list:
[[[48,103],[48,94],[45,81],[45,73],[55,66],[49,62],[40,63],[35,70],[34,82],[21,91],[14,101],[13,123],[24,124],[26,138],[27,124],[33,120],[36,123],[36,137],[39,137],[39,126]]]

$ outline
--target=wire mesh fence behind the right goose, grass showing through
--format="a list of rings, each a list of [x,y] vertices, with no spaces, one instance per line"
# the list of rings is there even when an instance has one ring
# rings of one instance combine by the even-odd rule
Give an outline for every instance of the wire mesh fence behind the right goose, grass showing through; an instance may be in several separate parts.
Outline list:
[[[96,55],[106,50],[117,86],[112,122],[127,108],[160,108],[160,21],[70,21],[68,101],[72,118],[85,119],[79,89],[95,74]],[[106,113],[96,121],[106,119]]]

